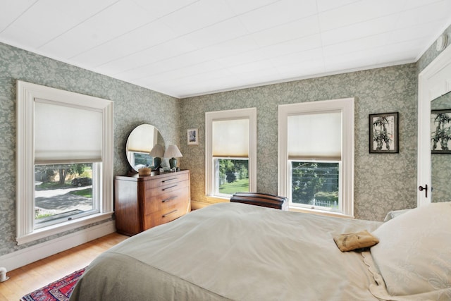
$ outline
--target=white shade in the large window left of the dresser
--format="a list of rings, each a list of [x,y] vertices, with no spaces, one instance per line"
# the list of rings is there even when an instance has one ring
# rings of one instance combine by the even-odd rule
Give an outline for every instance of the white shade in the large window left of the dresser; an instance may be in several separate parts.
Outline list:
[[[103,113],[35,99],[35,164],[102,159]]]

